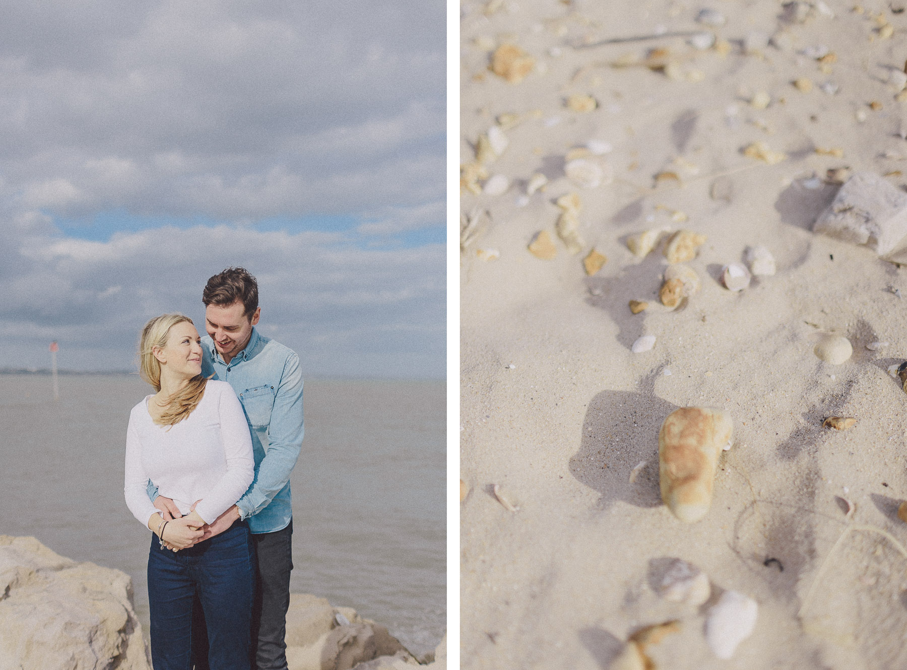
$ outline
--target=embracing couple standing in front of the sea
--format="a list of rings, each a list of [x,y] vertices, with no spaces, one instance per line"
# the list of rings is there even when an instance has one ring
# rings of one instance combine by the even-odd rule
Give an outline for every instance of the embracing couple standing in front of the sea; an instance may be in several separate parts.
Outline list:
[[[264,337],[258,284],[241,267],[188,316],[141,331],[126,503],[154,536],[148,557],[154,670],[286,670],[293,568],[289,476],[303,436],[297,354]]]

